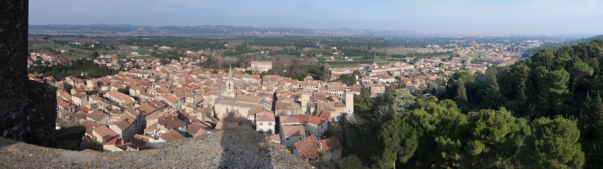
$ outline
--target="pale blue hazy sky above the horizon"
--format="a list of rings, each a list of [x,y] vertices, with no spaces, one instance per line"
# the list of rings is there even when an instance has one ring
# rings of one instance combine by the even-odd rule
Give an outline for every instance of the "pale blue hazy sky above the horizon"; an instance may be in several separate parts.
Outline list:
[[[603,34],[603,0],[30,0],[29,23]]]

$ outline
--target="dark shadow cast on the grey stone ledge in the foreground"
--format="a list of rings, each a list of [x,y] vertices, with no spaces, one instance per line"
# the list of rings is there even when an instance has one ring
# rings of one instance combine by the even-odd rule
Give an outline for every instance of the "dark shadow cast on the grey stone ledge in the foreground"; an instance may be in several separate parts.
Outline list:
[[[241,126],[239,128],[247,128]],[[244,133],[238,133],[244,132]],[[274,168],[268,141],[260,134],[248,134],[251,130],[229,129],[223,132],[222,157],[218,168]],[[241,138],[241,136],[248,136]],[[248,147],[248,149],[241,149]]]

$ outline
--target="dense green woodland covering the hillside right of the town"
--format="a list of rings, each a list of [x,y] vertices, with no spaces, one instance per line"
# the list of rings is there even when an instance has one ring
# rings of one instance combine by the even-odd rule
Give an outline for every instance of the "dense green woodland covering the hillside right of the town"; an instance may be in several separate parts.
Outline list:
[[[603,40],[544,49],[509,67],[456,72],[445,91],[362,90],[341,166],[603,167]],[[358,149],[367,147],[367,149]],[[354,162],[358,159],[361,162]]]

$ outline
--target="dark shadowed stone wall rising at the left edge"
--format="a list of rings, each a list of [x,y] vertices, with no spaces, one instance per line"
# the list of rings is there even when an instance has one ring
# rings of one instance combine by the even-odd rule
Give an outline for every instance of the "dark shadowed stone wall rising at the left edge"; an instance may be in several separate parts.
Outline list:
[[[29,1],[0,5],[0,137],[50,147],[56,89],[27,79]]]

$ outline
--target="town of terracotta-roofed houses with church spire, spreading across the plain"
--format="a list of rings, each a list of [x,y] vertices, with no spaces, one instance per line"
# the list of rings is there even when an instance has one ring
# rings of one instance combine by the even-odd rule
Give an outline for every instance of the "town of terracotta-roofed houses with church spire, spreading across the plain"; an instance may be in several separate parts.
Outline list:
[[[363,92],[429,96],[455,72],[510,66],[525,49],[546,41],[369,49],[320,41],[283,47],[213,40],[211,48],[186,49],[141,44],[158,42],[156,37],[127,37],[136,42],[111,46],[107,37],[44,36],[30,37],[29,78],[57,87],[57,129],[85,126],[82,151],[158,149],[162,142],[247,125],[299,158],[325,166],[342,158],[341,124],[371,123],[370,116],[355,113],[355,97]],[[73,60],[106,67],[109,75],[94,77],[96,68],[64,76],[34,72]],[[302,64],[321,67],[324,74],[287,76]]]

